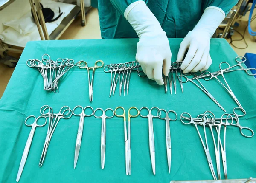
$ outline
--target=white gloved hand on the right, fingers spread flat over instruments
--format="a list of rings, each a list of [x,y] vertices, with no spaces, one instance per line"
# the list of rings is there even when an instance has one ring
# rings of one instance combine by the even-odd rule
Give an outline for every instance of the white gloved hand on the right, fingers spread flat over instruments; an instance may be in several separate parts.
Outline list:
[[[210,67],[210,39],[224,18],[225,13],[221,8],[210,6],[204,10],[198,24],[180,43],[177,62],[182,62],[188,49],[180,66],[183,73],[204,71]]]

